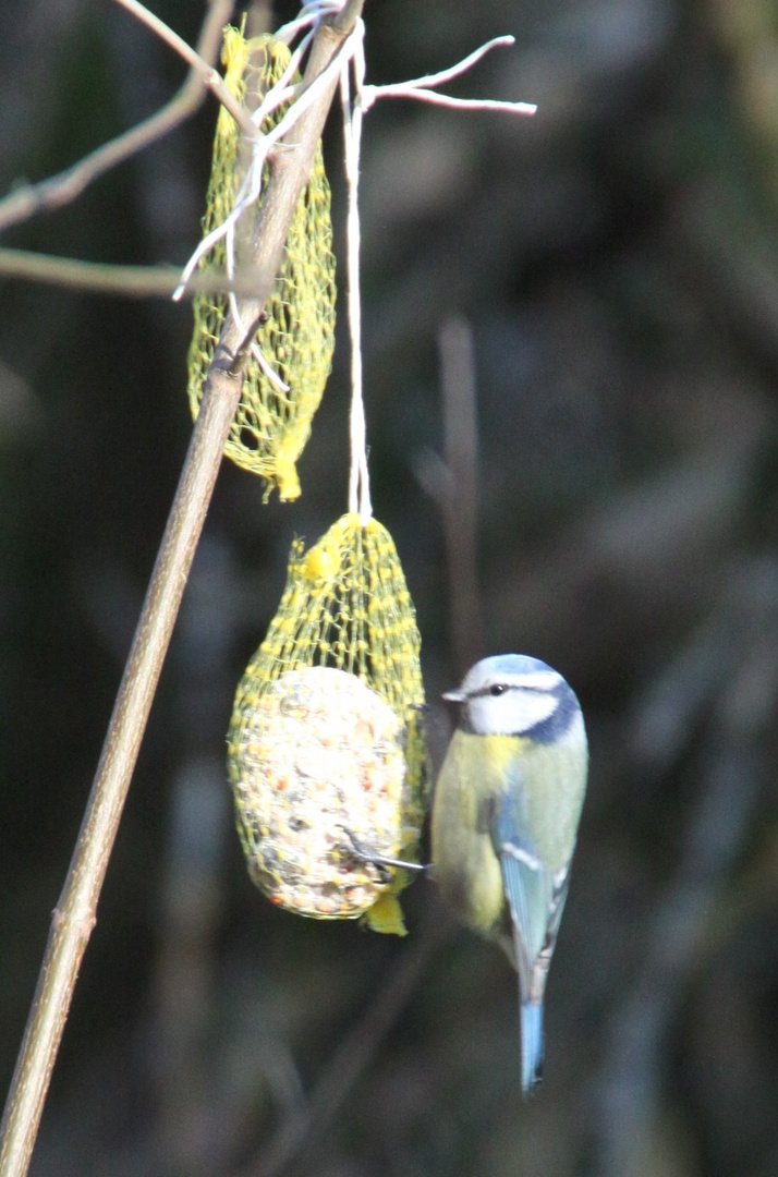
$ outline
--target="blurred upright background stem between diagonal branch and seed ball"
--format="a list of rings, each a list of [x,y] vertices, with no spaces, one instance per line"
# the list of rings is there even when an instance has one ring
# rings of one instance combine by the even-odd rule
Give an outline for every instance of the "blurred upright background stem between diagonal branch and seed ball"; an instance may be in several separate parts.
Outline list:
[[[162,1172],[224,1172],[228,1138],[213,1097],[208,1035],[217,992],[217,933],[225,902],[224,855],[232,826],[220,749],[204,737],[233,689],[230,649],[238,626],[227,544],[204,536],[184,598],[172,663],[186,753],[172,783],[154,967],[149,1065],[157,1116],[153,1150]],[[232,607],[231,607],[232,605]],[[261,1057],[270,1053],[266,1044]]]

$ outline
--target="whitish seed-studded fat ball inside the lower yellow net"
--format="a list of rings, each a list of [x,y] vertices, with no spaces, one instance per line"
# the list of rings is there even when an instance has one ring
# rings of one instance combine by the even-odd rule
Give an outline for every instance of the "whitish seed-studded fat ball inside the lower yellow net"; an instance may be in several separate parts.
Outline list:
[[[257,885],[302,916],[360,916],[390,883],[346,833],[397,858],[415,837],[403,725],[354,674],[290,670],[244,679],[230,737],[238,831]]]

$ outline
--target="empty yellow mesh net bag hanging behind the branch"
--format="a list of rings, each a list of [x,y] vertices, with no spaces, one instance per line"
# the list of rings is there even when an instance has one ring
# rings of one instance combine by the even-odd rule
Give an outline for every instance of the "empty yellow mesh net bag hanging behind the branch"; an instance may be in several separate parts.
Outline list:
[[[288,66],[290,49],[271,36],[246,40],[239,29],[227,27],[222,60],[226,85],[244,105],[255,108]],[[275,126],[285,109],[272,112],[262,122],[262,131]],[[248,165],[248,152],[234,120],[222,108],[202,218],[205,235],[222,225],[232,211]],[[261,198],[257,207],[260,205]],[[238,261],[241,241],[251,239],[252,220],[244,214],[238,221]],[[224,272],[226,260],[221,239],[200,259],[199,267]],[[277,486],[281,499],[294,499],[300,493],[297,460],[310,437],[311,421],[330,374],[335,321],[334,268],[330,185],[319,146],[290,228],[281,270],[265,307],[267,318],[255,334],[267,364],[287,388],[275,384],[257,357],[252,357],[225,447],[225,453],[239,466],[266,479],[267,494]],[[194,333],[188,354],[188,395],[194,418],[227,304],[226,295],[194,299]]]

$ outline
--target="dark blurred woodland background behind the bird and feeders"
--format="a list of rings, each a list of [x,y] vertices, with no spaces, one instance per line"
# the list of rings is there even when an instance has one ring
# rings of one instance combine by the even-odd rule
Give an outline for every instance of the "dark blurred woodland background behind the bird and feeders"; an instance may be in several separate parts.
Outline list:
[[[201,4],[154,11],[197,39]],[[521,1102],[516,978],[446,929],[430,883],[407,892],[405,940],[297,919],[252,887],[232,827],[235,684],[293,534],[345,508],[341,332],[302,498],[262,506],[224,465],[33,1172],[778,1173],[778,4],[367,0],[365,16],[368,80],[513,33],[450,88],[539,105],[379,104],[363,234],[373,500],[428,696],[463,669],[424,472],[438,332],[464,315],[481,652],[552,663],[589,726],[546,1079]],[[108,0],[4,0],[0,66],[2,191],[185,73]],[[214,118],[208,102],[2,244],[182,264]],[[191,327],[186,305],[0,279],[4,1091],[191,431]]]

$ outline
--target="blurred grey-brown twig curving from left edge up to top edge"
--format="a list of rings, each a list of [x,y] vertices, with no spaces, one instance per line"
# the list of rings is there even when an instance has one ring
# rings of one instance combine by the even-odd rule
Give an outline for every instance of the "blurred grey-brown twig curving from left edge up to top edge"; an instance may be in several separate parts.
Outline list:
[[[198,59],[206,69],[215,73],[208,65],[217,59],[221,44],[221,29],[230,19],[233,0],[211,0],[208,13],[198,41]],[[218,74],[217,74],[218,77]],[[155,114],[144,119],[138,126],[117,135],[107,144],[85,155],[78,164],[66,168],[58,175],[52,175],[40,184],[24,185],[14,188],[4,200],[0,200],[0,232],[11,225],[27,220],[34,213],[59,208],[74,200],[87,185],[97,180],[104,172],[121,164],[131,155],[161,139],[185,119],[194,114],[205,98],[202,71],[192,67],[186,81],[177,94]]]

